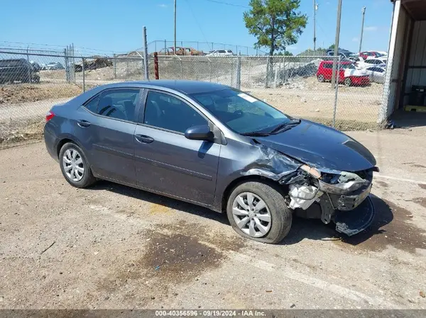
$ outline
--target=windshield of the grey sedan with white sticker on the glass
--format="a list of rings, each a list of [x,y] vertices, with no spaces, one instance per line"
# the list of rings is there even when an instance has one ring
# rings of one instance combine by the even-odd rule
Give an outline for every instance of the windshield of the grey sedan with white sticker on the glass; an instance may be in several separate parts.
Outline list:
[[[263,101],[237,89],[190,94],[231,130],[240,134],[270,132],[290,118]]]

